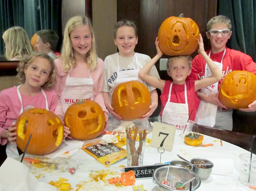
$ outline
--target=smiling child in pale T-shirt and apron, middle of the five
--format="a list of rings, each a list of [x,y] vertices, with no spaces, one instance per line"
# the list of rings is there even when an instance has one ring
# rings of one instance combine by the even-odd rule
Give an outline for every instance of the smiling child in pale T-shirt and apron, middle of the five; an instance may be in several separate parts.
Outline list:
[[[117,125],[120,123],[121,117],[115,113],[112,104],[111,96],[115,87],[125,81],[139,81],[146,85],[151,93],[151,106],[149,112],[145,113],[140,119],[146,119],[152,115],[157,108],[158,95],[156,88],[150,86],[145,81],[141,80],[138,76],[139,70],[151,59],[145,54],[134,53],[134,48],[138,43],[137,28],[134,22],[122,20],[115,24],[114,30],[114,43],[117,45],[119,53],[109,55],[104,60],[104,88],[103,97],[104,102],[113,115],[112,123]],[[150,74],[160,79],[156,67],[153,67]],[[138,124],[141,123],[138,120]]]

